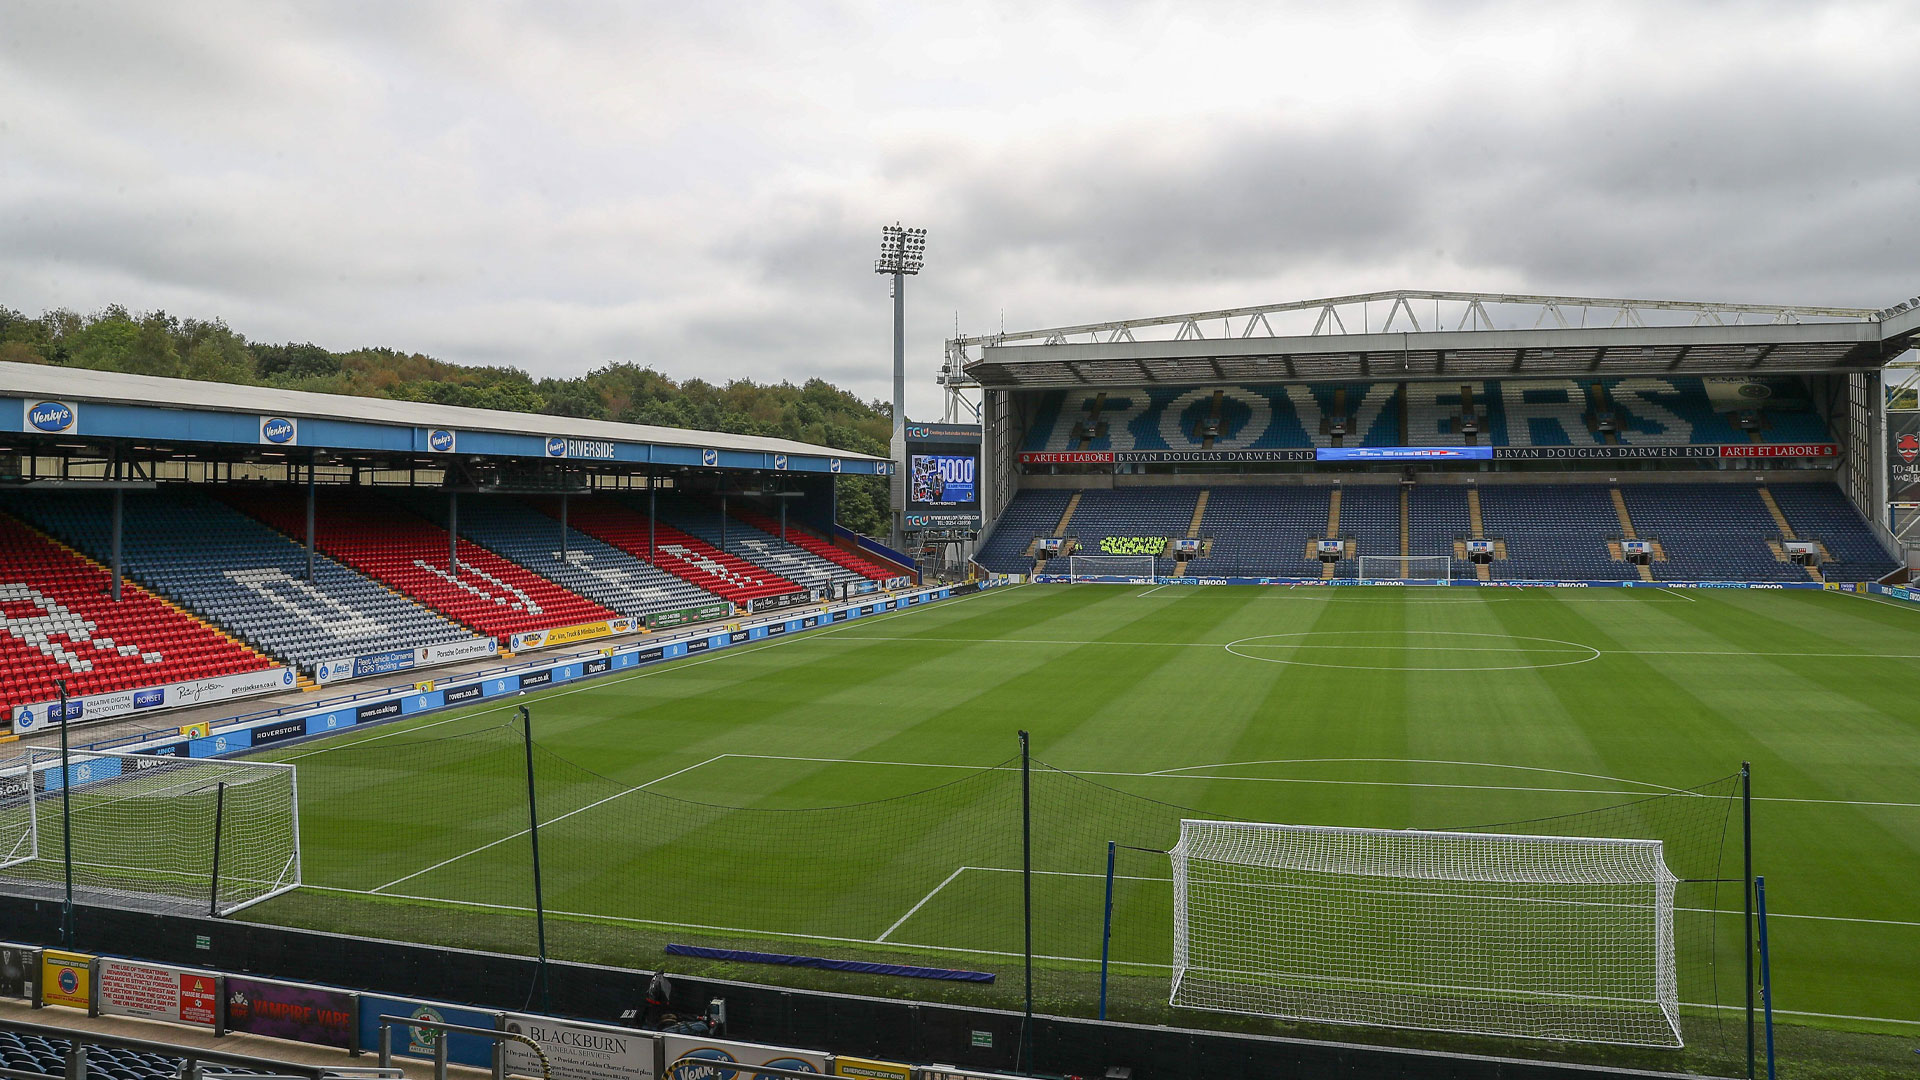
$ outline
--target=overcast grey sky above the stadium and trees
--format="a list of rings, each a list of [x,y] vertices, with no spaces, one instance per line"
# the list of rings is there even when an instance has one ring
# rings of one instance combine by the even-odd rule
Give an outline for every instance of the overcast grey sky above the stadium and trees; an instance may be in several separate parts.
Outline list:
[[[1920,292],[1920,4],[0,8],[0,306],[826,377],[1375,288]]]

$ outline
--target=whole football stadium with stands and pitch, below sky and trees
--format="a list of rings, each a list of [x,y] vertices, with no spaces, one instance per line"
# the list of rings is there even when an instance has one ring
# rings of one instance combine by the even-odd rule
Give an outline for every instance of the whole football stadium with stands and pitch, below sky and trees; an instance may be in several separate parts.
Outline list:
[[[4,363],[13,992],[298,980],[365,1036],[664,970],[701,1034],[941,1076],[1903,1074],[1916,334],[954,338],[891,459]]]

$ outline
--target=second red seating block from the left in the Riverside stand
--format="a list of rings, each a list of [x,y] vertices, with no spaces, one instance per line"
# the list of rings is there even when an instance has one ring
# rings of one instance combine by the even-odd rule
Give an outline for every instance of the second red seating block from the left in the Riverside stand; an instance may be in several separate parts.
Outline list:
[[[271,492],[223,492],[221,498],[288,536],[305,532],[305,507],[298,500]],[[449,573],[447,530],[374,492],[323,492],[315,544],[482,634],[503,638],[614,617],[470,540],[459,542],[459,575]]]

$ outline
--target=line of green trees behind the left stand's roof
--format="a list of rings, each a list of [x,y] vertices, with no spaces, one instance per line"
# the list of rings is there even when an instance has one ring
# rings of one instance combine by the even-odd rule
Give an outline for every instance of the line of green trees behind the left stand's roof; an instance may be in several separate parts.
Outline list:
[[[799,386],[751,379],[676,382],[637,363],[607,363],[576,379],[534,379],[518,367],[470,367],[394,348],[332,352],[311,342],[255,342],[221,319],[121,306],[92,315],[61,307],[38,317],[0,306],[0,361],[764,434],[877,455],[887,454],[893,432],[889,402],[862,402],[824,379]],[[839,519],[885,536],[885,482],[841,477]]]

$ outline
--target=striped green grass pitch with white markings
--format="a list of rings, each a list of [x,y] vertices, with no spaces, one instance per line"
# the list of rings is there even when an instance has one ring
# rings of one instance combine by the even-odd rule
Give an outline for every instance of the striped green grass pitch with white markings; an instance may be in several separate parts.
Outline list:
[[[1864,1068],[1895,1051],[1845,1032],[1920,1038],[1916,684],[1920,607],[1822,592],[1002,588],[263,753],[300,767],[309,888],[246,917],[530,951],[524,751],[501,726],[528,705],[557,955],[1010,1005],[1025,728],[1085,776],[1033,790],[1041,1007],[1085,1013],[1106,840],[1164,847],[1194,811],[1546,819],[1747,759],[1784,1040]],[[1121,851],[1114,1013],[1221,1022],[1165,1007],[1165,878]],[[1682,999],[1736,1003],[1738,886],[1692,907],[1720,963],[1684,970]],[[666,942],[1000,978],[699,967]]]

